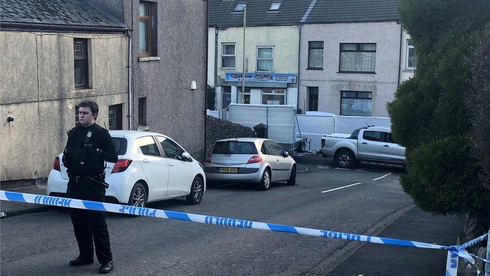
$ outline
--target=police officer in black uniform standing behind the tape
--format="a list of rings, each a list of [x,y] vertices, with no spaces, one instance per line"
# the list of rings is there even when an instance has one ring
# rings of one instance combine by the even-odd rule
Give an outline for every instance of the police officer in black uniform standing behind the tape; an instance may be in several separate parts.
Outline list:
[[[80,125],[68,132],[63,152],[63,164],[70,178],[67,194],[73,199],[103,202],[106,189],[105,162],[115,163],[117,153],[109,132],[95,124],[99,112],[97,104],[83,101],[78,107]],[[113,264],[105,212],[72,208],[70,216],[80,255],[69,264],[78,266],[93,263],[95,245],[95,254],[101,263],[99,273],[109,273]]]

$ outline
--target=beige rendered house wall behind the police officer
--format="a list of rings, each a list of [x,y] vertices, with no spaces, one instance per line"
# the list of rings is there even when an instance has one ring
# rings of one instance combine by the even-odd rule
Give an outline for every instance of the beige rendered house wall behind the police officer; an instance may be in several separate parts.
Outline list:
[[[74,37],[89,39],[89,89],[74,88]],[[82,100],[99,104],[107,127],[108,107],[122,104],[127,129],[127,45],[122,34],[0,32],[0,180],[47,177]]]

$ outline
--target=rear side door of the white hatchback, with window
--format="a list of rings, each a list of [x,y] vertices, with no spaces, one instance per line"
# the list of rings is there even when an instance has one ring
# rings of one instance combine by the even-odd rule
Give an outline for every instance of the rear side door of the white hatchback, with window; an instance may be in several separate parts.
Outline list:
[[[151,198],[164,197],[167,194],[169,177],[167,160],[161,156],[153,136],[137,138],[136,145],[143,173],[149,181],[149,196]]]

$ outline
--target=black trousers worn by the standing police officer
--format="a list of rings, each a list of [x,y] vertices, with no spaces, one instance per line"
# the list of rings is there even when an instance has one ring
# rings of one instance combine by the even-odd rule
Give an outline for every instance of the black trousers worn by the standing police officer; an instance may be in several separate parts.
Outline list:
[[[93,180],[70,177],[67,194],[69,198],[103,202],[105,188]],[[80,257],[85,260],[93,259],[93,247],[99,263],[112,260],[110,252],[109,232],[105,223],[105,212],[83,209],[70,209],[73,231],[78,243]]]

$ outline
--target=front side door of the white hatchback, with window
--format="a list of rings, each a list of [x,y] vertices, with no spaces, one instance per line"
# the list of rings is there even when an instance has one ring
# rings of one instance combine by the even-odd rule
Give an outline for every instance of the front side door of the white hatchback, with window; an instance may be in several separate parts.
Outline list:
[[[190,163],[182,159],[185,150],[169,138],[157,136],[157,140],[167,160],[169,172],[167,196],[189,193],[193,179],[191,179]]]

